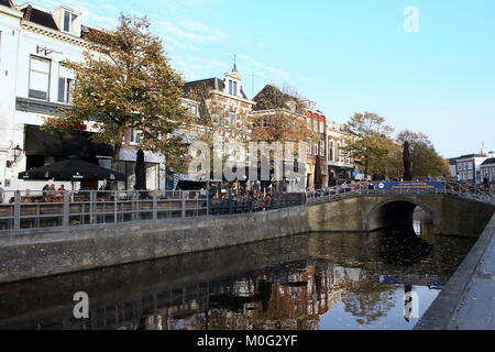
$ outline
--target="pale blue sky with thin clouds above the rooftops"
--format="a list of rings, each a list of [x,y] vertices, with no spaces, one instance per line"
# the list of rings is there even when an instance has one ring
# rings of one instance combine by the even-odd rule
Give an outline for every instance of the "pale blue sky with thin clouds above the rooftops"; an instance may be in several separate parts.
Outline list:
[[[147,15],[186,80],[222,77],[233,54],[251,97],[294,87],[328,118],[383,116],[428,134],[446,157],[495,150],[493,0],[36,0],[64,3],[111,28]],[[404,31],[404,9],[419,32]],[[254,73],[254,89],[253,89]]]

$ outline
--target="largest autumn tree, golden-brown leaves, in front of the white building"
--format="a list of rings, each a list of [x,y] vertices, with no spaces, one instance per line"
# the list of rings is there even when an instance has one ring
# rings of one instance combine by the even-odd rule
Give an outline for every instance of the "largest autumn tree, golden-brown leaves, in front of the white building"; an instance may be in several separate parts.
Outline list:
[[[89,43],[85,59],[63,63],[76,76],[73,106],[43,129],[54,132],[90,121],[97,131],[92,140],[113,146],[113,164],[127,133],[135,130],[139,148],[161,153],[167,167],[183,169],[187,148],[176,132],[190,119],[180,102],[184,81],[148,20],[121,14],[116,30],[90,30],[84,37]]]

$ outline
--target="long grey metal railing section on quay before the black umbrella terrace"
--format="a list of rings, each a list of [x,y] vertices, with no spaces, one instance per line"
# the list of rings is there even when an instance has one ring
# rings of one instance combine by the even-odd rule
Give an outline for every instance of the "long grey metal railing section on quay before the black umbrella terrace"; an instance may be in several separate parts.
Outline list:
[[[0,231],[207,215],[208,196],[201,191],[14,191],[0,205]]]

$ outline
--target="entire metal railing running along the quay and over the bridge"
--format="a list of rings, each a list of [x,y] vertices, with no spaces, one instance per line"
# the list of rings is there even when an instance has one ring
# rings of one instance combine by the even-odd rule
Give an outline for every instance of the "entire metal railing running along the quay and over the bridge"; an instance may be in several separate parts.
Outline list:
[[[29,229],[66,228],[143,220],[199,218],[260,212],[301,205],[337,201],[366,195],[443,194],[495,205],[493,194],[466,191],[458,186],[443,189],[377,189],[375,186],[328,188],[306,193],[277,193],[253,199],[229,193],[212,198],[206,190],[42,190],[4,193],[0,205],[0,233]]]

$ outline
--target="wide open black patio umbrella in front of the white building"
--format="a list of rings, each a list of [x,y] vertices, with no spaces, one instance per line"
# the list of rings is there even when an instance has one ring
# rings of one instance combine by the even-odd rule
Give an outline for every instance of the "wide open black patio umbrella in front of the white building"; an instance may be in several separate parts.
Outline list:
[[[112,169],[79,158],[68,158],[50,165],[19,173],[24,180],[125,180],[125,176]]]

